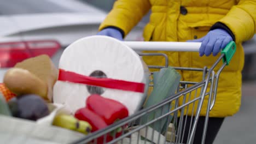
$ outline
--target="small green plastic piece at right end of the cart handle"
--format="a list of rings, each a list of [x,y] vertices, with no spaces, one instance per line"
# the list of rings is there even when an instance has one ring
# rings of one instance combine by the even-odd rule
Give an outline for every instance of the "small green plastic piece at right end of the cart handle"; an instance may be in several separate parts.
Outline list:
[[[223,63],[226,62],[226,65],[229,65],[232,57],[235,55],[236,52],[236,43],[235,41],[230,41],[228,45],[222,50],[224,53]]]

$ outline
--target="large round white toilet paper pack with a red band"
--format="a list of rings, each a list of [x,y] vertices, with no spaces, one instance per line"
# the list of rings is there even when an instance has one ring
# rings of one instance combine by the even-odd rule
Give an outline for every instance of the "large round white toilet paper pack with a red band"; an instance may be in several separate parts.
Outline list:
[[[138,111],[146,98],[149,70],[135,51],[117,39],[95,35],[75,41],[63,51],[59,69],[83,76],[103,76],[144,84],[144,92],[124,91],[63,81],[59,76],[54,85],[54,103],[65,105],[72,113],[84,107],[86,98],[95,91],[102,97],[124,104],[129,115]]]

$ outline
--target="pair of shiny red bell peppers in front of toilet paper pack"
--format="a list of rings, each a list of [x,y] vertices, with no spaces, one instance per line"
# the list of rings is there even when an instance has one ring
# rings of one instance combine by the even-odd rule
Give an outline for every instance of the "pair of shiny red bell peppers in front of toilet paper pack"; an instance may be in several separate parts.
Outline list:
[[[106,128],[120,119],[129,115],[129,112],[119,101],[92,94],[86,99],[86,106],[75,111],[74,116],[82,121],[89,122],[92,132]],[[119,127],[107,134],[106,142],[123,133],[123,127]],[[99,137],[97,143],[103,143],[104,137]]]

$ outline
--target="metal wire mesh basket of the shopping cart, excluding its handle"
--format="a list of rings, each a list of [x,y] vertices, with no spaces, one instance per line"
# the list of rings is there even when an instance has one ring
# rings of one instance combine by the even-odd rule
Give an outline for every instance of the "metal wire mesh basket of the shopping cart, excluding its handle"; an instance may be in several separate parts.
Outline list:
[[[149,65],[149,68],[161,69],[168,67],[168,57],[164,53],[139,53],[139,55],[162,56],[165,58],[164,66]],[[204,143],[208,117],[216,100],[219,75],[226,62],[222,64],[217,72],[214,71],[214,68],[223,57],[224,54],[220,55],[210,69],[207,67],[173,67],[176,70],[202,73],[202,81],[180,81],[174,95],[170,95],[158,104],[142,109],[132,116],[121,119],[107,128],[95,131],[73,143],[193,143],[201,113],[205,116],[205,122],[203,131],[199,131],[201,132],[199,136],[201,137],[201,143]],[[149,86],[153,87],[152,84]],[[203,101],[207,103],[203,103]],[[168,111],[166,111],[166,107]],[[206,109],[202,109],[202,107],[206,107]],[[154,118],[147,123],[142,123],[142,118],[147,119],[150,114]],[[167,122],[170,121],[171,123],[165,124],[164,133],[153,129],[156,124],[166,123],[166,119]],[[123,129],[121,134],[115,137],[118,133],[117,129],[120,128]],[[108,135],[110,134],[114,137],[109,141]]]

